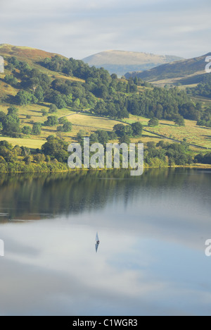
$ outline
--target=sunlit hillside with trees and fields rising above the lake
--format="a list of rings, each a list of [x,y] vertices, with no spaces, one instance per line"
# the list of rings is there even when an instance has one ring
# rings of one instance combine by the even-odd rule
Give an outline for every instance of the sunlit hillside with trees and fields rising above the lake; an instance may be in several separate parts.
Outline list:
[[[189,164],[196,153],[211,148],[210,100],[200,104],[201,87],[194,95],[177,87],[156,88],[140,78],[118,79],[103,68],[27,47],[1,45],[0,56],[5,62],[0,171],[16,171],[16,165],[19,171],[67,169],[68,144],[85,136],[101,143],[141,140],[150,150],[149,166]],[[159,120],[155,128],[148,126],[153,117]],[[34,156],[17,145],[32,149]]]

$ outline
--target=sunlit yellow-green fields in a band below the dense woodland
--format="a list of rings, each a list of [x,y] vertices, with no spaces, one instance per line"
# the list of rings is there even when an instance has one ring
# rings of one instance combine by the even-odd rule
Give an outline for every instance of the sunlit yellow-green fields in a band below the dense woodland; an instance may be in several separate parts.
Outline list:
[[[21,106],[20,108],[20,119],[23,121],[24,125],[29,125],[30,121],[34,122],[44,122],[44,118],[41,116],[40,107],[37,104]],[[0,111],[6,111],[6,106],[0,106]],[[26,114],[32,114],[32,118],[30,120],[25,118]],[[86,135],[90,135],[94,133],[96,130],[113,130],[113,126],[117,123],[122,123],[121,121],[116,121],[109,118],[103,118],[94,116],[91,114],[82,114],[75,113],[74,111],[70,111],[70,109],[63,109],[58,111],[57,116],[66,116],[68,121],[72,123],[72,131],[70,133],[62,133],[62,136],[68,142],[77,140],[77,133],[79,130],[84,130]],[[125,123],[131,124],[136,121],[139,121],[143,127],[143,135],[141,138],[132,138],[132,142],[139,142],[140,140],[143,143],[154,141],[159,142],[161,139],[169,140],[179,140],[182,141],[186,139],[186,141],[193,145],[198,145],[201,147],[206,147],[211,149],[211,129],[205,128],[201,126],[196,126],[196,121],[188,121],[186,120],[185,127],[178,127],[172,123],[172,121],[160,121],[159,126],[150,128],[148,127],[148,118],[138,117],[130,115],[128,119],[125,119]],[[146,132],[148,130],[149,132]],[[158,135],[163,135],[163,137],[159,137]],[[1,140],[8,140],[12,143],[12,145],[23,145],[25,147],[32,148],[40,148],[42,144],[44,144],[46,138],[49,135],[56,135],[56,127],[43,127],[41,130],[41,135],[31,135],[30,138],[24,139],[15,139],[15,138],[4,138],[0,137]]]

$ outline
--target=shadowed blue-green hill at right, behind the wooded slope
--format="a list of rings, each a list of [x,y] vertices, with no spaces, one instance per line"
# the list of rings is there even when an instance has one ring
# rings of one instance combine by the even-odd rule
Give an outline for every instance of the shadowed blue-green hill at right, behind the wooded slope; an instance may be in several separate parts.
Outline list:
[[[181,60],[173,63],[163,64],[148,71],[126,73],[126,78],[138,77],[148,82],[159,82],[160,84],[180,82],[184,85],[188,83],[198,83],[205,75],[205,58],[208,53],[193,59]]]

